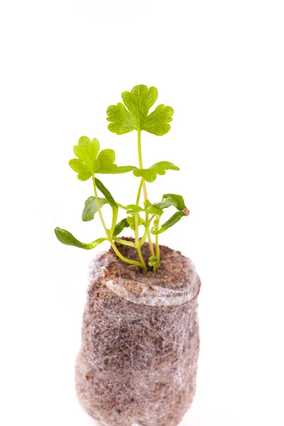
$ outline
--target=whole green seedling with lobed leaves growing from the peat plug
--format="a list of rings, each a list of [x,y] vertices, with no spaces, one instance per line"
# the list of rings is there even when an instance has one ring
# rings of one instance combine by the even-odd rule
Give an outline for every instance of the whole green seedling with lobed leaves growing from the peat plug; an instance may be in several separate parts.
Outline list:
[[[155,87],[138,85],[131,89],[131,92],[124,92],[121,95],[123,104],[119,102],[117,105],[111,105],[107,109],[107,120],[110,121],[109,130],[117,135],[123,135],[130,131],[137,131],[137,147],[138,147],[138,164],[139,167],[133,165],[116,165],[116,155],[112,149],[103,149],[100,151],[99,141],[82,136],[78,145],[74,147],[74,153],[77,158],[70,160],[69,164],[72,170],[77,173],[79,180],[92,179],[94,195],[89,197],[84,204],[82,220],[89,222],[94,219],[94,215],[98,212],[105,236],[95,239],[89,244],[84,244],[75,239],[70,232],[65,229],[55,228],[55,234],[62,244],[79,247],[80,249],[93,249],[102,241],[109,241],[111,247],[121,261],[136,265],[141,268],[143,273],[148,272],[148,266],[151,271],[156,272],[160,264],[160,249],[158,236],[171,226],[176,224],[182,216],[190,214],[181,195],[164,194],[160,202],[150,202],[146,182],[154,182],[157,175],[165,175],[166,170],[180,170],[176,165],[169,161],[160,161],[151,165],[150,168],[143,168],[143,159],[141,151],[141,133],[147,131],[156,136],[163,136],[170,131],[170,121],[173,120],[173,108],[165,107],[160,104],[149,114],[149,110],[155,104],[158,98],[158,90]],[[102,174],[120,174],[132,172],[136,178],[139,178],[138,193],[135,204],[119,204],[114,201],[111,193],[104,184],[97,178]],[[141,192],[143,190],[143,204],[141,203]],[[104,195],[99,197],[98,191]],[[110,226],[107,226],[102,214],[104,204],[109,204],[112,209],[112,220]],[[165,209],[174,207],[175,212],[170,219],[160,225],[160,219]],[[119,211],[124,211],[126,217],[118,222]],[[134,241],[119,238],[124,228],[130,227],[134,232]],[[140,237],[140,228],[143,228],[143,235]],[[151,240],[151,235],[155,236],[155,248]],[[141,246],[148,240],[151,256],[144,259],[141,253]],[[137,250],[139,261],[124,257],[115,243],[133,246]]]

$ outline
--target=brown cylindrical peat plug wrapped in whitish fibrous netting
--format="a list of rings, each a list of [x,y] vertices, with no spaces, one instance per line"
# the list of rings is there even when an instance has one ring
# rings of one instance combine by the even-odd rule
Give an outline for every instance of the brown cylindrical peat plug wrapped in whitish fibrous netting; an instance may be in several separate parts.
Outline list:
[[[138,260],[132,247],[118,247]],[[195,395],[200,278],[180,252],[161,246],[160,255],[147,275],[112,249],[92,265],[76,388],[105,426],[177,426]]]

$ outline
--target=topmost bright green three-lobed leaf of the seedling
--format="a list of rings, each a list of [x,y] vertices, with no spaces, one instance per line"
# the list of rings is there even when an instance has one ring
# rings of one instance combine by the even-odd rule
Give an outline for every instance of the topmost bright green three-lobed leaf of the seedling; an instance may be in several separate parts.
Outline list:
[[[122,135],[136,129],[145,130],[149,133],[161,136],[170,130],[173,108],[160,104],[150,115],[149,109],[153,107],[158,99],[158,90],[138,84],[131,92],[123,92],[121,97],[124,104],[119,102],[107,109],[107,121],[111,121],[108,128],[110,131]]]

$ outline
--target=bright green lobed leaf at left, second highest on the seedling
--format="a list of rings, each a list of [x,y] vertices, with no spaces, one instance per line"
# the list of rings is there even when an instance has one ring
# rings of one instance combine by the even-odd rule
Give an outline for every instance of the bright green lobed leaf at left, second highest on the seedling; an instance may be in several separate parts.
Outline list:
[[[95,173],[118,174],[136,169],[131,165],[119,167],[114,164],[115,152],[112,149],[103,149],[99,153],[99,141],[97,139],[90,141],[87,136],[82,136],[78,145],[75,145],[73,149],[78,158],[70,160],[69,165],[72,170],[78,173],[77,178],[80,180],[88,180]]]

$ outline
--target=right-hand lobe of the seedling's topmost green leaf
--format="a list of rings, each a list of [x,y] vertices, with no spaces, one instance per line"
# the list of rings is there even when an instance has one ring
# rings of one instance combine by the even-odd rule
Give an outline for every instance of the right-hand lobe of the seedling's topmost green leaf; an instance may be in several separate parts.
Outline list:
[[[153,133],[156,136],[163,136],[170,131],[170,121],[173,121],[173,108],[159,105],[147,118],[143,130]]]

